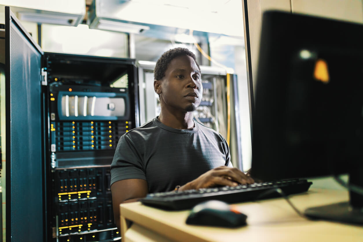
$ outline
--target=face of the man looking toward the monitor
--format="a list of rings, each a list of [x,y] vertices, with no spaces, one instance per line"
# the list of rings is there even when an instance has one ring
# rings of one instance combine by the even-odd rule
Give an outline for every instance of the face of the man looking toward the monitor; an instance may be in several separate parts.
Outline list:
[[[200,71],[190,56],[174,58],[160,82],[160,101],[166,108],[194,111],[200,104],[203,87]]]

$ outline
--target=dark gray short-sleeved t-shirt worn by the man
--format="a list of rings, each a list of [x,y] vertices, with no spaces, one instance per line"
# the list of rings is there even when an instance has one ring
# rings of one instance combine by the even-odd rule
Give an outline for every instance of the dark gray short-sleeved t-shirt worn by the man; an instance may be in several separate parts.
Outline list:
[[[144,179],[149,193],[167,192],[213,168],[232,167],[222,135],[194,123],[194,128],[179,130],[154,118],[124,134],[111,164],[111,184]]]

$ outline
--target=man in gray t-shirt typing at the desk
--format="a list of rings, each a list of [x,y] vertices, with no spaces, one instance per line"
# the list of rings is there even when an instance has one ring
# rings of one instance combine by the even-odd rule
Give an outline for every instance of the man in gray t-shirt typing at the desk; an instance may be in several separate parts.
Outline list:
[[[156,62],[154,77],[160,115],[123,135],[111,164],[118,228],[119,204],[148,193],[254,182],[232,167],[225,139],[193,120],[203,93],[195,55],[185,48],[168,50]]]

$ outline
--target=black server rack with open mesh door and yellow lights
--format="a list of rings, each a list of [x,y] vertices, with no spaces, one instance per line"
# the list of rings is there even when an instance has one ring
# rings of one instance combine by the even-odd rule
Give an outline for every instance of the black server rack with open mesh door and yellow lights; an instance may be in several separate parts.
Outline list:
[[[5,52],[7,241],[118,240],[109,167],[140,122],[135,60],[44,53],[8,7]]]

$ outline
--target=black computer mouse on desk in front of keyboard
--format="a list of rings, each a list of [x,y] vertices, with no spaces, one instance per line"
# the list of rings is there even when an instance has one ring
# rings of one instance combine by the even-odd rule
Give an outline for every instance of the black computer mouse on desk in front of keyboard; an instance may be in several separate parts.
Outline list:
[[[218,227],[240,227],[246,225],[247,216],[222,201],[209,200],[193,207],[187,224]]]

